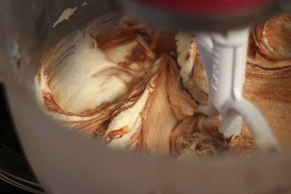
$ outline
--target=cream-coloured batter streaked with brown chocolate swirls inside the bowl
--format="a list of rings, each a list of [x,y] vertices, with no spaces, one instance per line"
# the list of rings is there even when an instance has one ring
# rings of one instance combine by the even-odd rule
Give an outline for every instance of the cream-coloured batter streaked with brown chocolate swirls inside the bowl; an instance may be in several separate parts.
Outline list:
[[[282,144],[291,139],[290,18],[279,14],[254,27],[244,85],[245,98],[266,117]],[[98,29],[93,23],[75,34],[76,44],[64,39],[42,61],[36,95],[49,115],[117,149],[179,159],[212,158],[226,150],[255,153],[247,126],[225,142],[221,117],[203,114],[208,85],[192,35],[177,36],[189,41],[185,48],[178,45],[178,65],[175,33],[128,17]],[[63,45],[71,51],[60,55]]]

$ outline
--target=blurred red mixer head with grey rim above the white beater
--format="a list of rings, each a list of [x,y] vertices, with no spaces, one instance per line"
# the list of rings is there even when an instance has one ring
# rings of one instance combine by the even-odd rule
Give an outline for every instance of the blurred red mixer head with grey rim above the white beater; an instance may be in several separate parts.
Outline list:
[[[164,28],[225,30],[271,16],[280,0],[127,0],[132,15]]]

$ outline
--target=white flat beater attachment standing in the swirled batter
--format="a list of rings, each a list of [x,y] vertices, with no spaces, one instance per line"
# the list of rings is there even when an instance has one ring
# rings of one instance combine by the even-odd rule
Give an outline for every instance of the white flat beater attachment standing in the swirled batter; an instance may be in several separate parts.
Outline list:
[[[225,140],[241,133],[243,118],[262,151],[277,148],[271,128],[260,112],[243,99],[249,28],[226,32],[196,33],[208,81],[209,116],[222,114]]]

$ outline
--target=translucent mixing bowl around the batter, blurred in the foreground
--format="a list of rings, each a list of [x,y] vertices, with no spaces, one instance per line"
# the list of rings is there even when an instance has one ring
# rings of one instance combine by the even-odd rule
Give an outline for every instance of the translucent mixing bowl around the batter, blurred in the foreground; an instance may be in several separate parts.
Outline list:
[[[48,193],[286,193],[291,191],[291,150],[250,160],[217,158],[178,162],[108,149],[46,116],[34,97],[41,58],[63,37],[104,15],[118,18],[111,1],[6,1],[1,72],[18,137]],[[69,20],[53,28],[67,8]],[[104,20],[104,22],[106,22]]]

